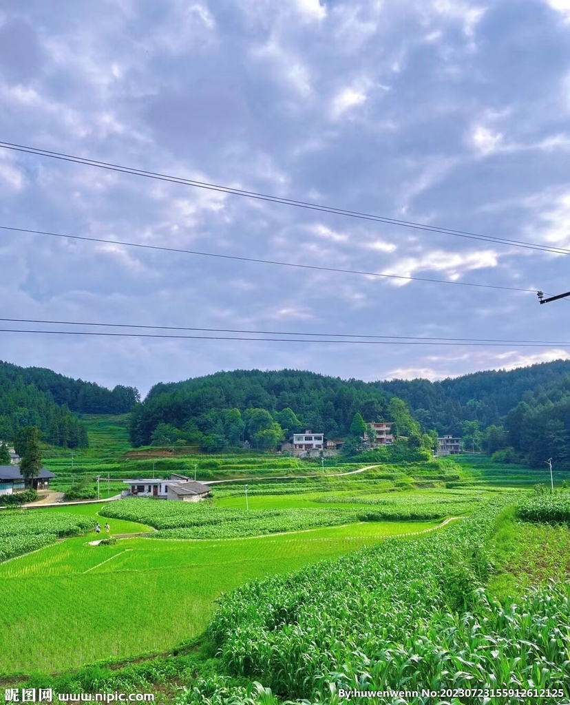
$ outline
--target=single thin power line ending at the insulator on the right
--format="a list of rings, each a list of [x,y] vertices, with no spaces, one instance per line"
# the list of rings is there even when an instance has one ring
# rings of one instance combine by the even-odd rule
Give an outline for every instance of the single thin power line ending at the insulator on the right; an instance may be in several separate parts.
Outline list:
[[[403,279],[405,281],[427,281],[434,284],[450,284],[452,286],[474,286],[481,289],[500,289],[502,291],[522,291],[523,293],[535,293],[536,289],[525,289],[517,286],[499,286],[495,284],[478,284],[469,281],[448,281],[447,279],[435,279],[425,276],[404,276],[403,274],[380,274],[376,271],[363,271],[358,269],[341,269],[340,267],[320,266],[318,264],[300,264],[299,262],[280,262],[276,259],[261,259],[259,257],[241,257],[240,255],[223,255],[220,252],[202,252],[201,250],[185,250],[182,247],[166,247],[163,245],[146,245],[142,243],[130,243],[125,240],[105,240],[104,238],[90,238],[87,235],[65,235],[63,233],[51,233],[49,231],[30,230],[29,228],[12,228],[1,225],[0,230],[13,231],[15,233],[30,233],[32,235],[46,235],[50,238],[67,238],[69,240],[84,240],[90,243],[105,243],[106,245],[124,245],[125,247],[140,247],[143,250],[159,250],[161,252],[177,252],[183,255],[199,255],[201,257],[220,257],[221,259],[235,259],[239,262],[254,262],[256,264],[273,264],[277,266],[295,267],[297,269],[313,269],[316,271],[332,271],[340,274],[359,274],[361,276],[374,276],[386,279]]]

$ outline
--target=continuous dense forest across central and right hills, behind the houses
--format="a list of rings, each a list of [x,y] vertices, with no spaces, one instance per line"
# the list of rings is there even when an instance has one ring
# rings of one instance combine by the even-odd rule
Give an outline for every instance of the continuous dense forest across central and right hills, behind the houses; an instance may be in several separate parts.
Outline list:
[[[396,422],[404,436],[451,434],[466,449],[498,452],[502,460],[538,465],[552,457],[570,468],[566,360],[436,382],[367,383],[288,369],[218,372],[154,386],[135,405],[130,433],[137,446],[178,441],[213,450],[245,439],[271,447],[304,429],[346,436],[356,413],[366,422]]]

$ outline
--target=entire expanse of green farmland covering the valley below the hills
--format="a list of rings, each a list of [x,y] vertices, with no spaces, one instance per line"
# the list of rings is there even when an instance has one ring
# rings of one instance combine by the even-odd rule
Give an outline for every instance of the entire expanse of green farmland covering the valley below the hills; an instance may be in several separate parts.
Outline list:
[[[453,685],[448,673],[463,685],[483,684],[488,674],[505,687],[564,681],[570,594],[548,581],[569,575],[570,564],[557,558],[569,550],[568,529],[545,522],[567,521],[570,495],[528,491],[544,481],[541,471],[475,458],[335,477],[361,466],[331,464],[323,474],[316,463],[261,453],[131,457],[120,419],[92,419],[92,427],[101,450],[74,458],[74,483],[109,472],[113,492],[123,478],[151,475],[153,464],[156,477],[193,476],[194,462],[198,479],[233,481],[195,505],[137,499],[27,510],[12,515],[31,517],[17,522],[4,515],[13,525],[4,539],[27,544],[0,563],[11,606],[0,630],[0,677],[140,658],[202,635],[208,661],[196,657],[190,668],[190,656],[180,656],[180,672],[168,662],[168,678],[182,670],[205,678],[180,693],[178,705],[302,697],[332,705],[342,701],[335,689],[350,683]],[[69,461],[46,461],[62,486],[72,482]],[[278,474],[287,479],[268,479]],[[445,517],[460,518],[440,527]],[[147,537],[90,546],[97,521],[109,521],[111,534]],[[527,594],[533,585],[539,591]],[[547,641],[554,629],[558,651]],[[521,651],[521,639],[532,646]],[[218,649],[220,658],[211,658]],[[123,668],[106,673],[120,689]],[[280,699],[256,695],[246,685],[255,679]]]

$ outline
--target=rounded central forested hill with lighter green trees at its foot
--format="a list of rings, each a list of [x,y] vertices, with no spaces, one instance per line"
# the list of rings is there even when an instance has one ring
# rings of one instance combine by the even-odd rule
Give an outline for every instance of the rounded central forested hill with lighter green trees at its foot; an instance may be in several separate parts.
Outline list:
[[[357,412],[368,420],[395,415],[390,395],[357,380],[287,369],[218,372],[154,386],[133,410],[131,440],[136,446],[179,440],[201,448],[247,440],[272,447],[304,429],[330,439],[345,436]],[[401,425],[404,433],[403,417]]]

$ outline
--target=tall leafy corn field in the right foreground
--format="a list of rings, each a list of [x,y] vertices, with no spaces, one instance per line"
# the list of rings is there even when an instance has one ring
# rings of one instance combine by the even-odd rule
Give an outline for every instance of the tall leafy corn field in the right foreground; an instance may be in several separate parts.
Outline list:
[[[209,627],[225,668],[311,703],[340,703],[340,688],[549,687],[567,701],[570,584],[519,604],[482,587],[492,570],[485,541],[508,502],[430,537],[389,539],[237,589]]]

